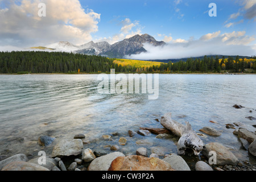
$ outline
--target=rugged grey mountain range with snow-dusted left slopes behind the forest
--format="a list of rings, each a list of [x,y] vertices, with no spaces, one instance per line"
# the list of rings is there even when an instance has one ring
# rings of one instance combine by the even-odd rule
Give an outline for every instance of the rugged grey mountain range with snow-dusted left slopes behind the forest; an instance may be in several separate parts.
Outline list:
[[[141,52],[146,52],[143,48],[143,44],[148,43],[154,46],[162,46],[166,43],[163,41],[158,42],[152,36],[148,34],[135,35],[129,39],[124,39],[114,44],[109,44],[108,42],[89,42],[81,46],[75,46],[69,42],[58,42],[45,46],[46,49],[53,49],[54,51],[63,52],[76,52],[84,53],[87,55],[101,55],[110,58],[123,58],[125,55],[139,54]],[[36,47],[34,47],[35,49]]]

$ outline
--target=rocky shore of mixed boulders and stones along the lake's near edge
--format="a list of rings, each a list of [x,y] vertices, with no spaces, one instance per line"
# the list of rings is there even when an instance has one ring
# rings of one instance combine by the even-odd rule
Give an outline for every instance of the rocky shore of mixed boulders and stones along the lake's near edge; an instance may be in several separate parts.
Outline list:
[[[236,109],[242,106],[235,105]],[[253,117],[249,118],[253,119]],[[156,122],[159,122],[156,119]],[[210,121],[214,123],[214,121]],[[233,129],[233,134],[241,141],[241,146],[247,150],[251,158],[256,158],[256,133],[243,127],[242,123],[228,123],[226,129]],[[203,127],[199,137],[220,137],[221,131],[214,127]],[[154,138],[168,140],[173,137],[165,128],[140,127],[138,131],[127,131],[130,138],[140,135],[142,138],[152,134]],[[53,144],[55,138],[40,136],[38,144],[42,147]],[[132,154],[126,154],[122,147],[129,147],[129,138],[119,133],[101,136],[101,140],[117,140],[117,144],[105,146],[109,153],[93,150],[88,146],[90,141],[86,134],[77,134],[73,138],[59,140],[51,154],[47,154],[45,163],[41,164],[42,156],[28,159],[24,154],[13,156],[0,155],[1,171],[256,171],[256,165],[248,161],[240,161],[229,147],[218,142],[205,144],[205,149],[199,156],[179,156],[164,147],[154,147],[147,140],[137,140],[137,147]],[[145,144],[146,143],[146,144]],[[216,152],[216,163],[212,162],[211,151]]]

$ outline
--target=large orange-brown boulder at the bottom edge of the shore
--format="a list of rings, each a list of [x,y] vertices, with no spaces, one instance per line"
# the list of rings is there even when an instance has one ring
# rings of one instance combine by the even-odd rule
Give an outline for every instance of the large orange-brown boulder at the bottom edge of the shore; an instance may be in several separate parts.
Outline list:
[[[129,155],[113,160],[109,171],[175,171],[170,164],[159,158]]]

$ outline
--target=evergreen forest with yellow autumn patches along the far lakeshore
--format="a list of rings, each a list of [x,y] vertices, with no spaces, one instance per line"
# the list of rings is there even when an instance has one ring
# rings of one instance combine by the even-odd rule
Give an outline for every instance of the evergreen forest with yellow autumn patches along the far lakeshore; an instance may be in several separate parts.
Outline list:
[[[0,73],[109,73],[110,69],[123,73],[256,73],[256,57],[234,59],[208,57],[187,59],[176,63],[160,63],[145,66],[125,64],[108,57],[68,52],[13,51],[0,52]],[[147,66],[146,66],[147,65]]]

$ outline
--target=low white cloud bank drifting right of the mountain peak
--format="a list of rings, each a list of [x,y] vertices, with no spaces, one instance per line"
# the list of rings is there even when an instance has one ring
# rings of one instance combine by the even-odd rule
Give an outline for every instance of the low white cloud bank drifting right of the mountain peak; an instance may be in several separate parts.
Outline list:
[[[255,54],[255,45],[249,46],[255,38],[246,36],[245,31],[234,31],[220,34],[220,31],[201,36],[200,39],[176,39],[165,46],[155,47],[145,44],[147,52],[139,55],[127,56],[129,59],[154,60],[154,59],[181,59],[185,57],[197,57],[204,55],[241,55]],[[207,41],[205,41],[207,40]]]

